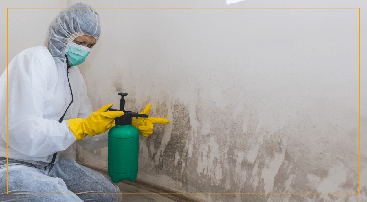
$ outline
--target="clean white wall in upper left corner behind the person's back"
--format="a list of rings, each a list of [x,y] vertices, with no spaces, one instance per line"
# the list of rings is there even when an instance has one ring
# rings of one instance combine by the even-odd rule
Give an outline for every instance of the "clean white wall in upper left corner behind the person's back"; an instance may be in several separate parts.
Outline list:
[[[12,7],[66,7],[66,0],[14,0],[1,1],[0,60],[7,61],[7,26],[8,26],[8,63],[21,51],[39,46],[44,42],[48,25],[62,9],[8,9]],[[4,63],[5,64],[5,63]],[[0,67],[1,73],[6,68]]]

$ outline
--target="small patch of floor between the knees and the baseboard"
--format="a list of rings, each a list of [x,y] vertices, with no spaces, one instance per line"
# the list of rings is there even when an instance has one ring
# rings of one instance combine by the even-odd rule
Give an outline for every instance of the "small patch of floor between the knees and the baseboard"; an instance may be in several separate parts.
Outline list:
[[[119,186],[121,193],[152,193],[144,189],[135,187],[133,185],[128,185],[122,182],[117,184]],[[124,195],[123,202],[176,202],[162,195]]]

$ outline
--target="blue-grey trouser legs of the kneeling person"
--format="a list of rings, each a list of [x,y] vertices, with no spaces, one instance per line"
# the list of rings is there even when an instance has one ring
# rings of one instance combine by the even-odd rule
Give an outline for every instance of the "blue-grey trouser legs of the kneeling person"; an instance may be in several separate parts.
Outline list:
[[[9,193],[69,193],[72,195],[8,195],[7,159],[0,157],[1,202],[115,202],[122,195],[74,195],[72,193],[113,194],[120,192],[102,174],[95,172],[62,153],[51,168],[43,172],[39,165],[9,159]],[[120,192],[121,193],[121,192]]]

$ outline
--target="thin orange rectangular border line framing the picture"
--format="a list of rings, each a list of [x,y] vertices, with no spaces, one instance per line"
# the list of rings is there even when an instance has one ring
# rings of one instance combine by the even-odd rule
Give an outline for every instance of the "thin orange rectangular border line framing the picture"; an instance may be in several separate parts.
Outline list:
[[[9,41],[8,41],[8,35],[9,35],[9,22],[8,22],[8,16],[9,16],[9,8],[10,9],[13,9],[13,8],[42,8],[42,7],[8,7],[7,8],[7,69],[8,69],[8,63],[9,63],[9,59],[8,59],[8,50],[9,50]],[[44,8],[48,8],[48,7],[44,7]],[[49,8],[54,8],[54,7],[49,7]],[[56,7],[55,7],[56,8]],[[59,9],[68,9],[69,7],[61,7]],[[93,8],[104,8],[104,7],[93,7]],[[113,8],[113,7],[106,7],[106,8]],[[228,9],[244,9],[244,8],[250,8],[250,7],[116,7],[116,8],[123,8],[123,9],[127,9],[127,8],[137,8],[137,9],[151,9],[151,8],[158,8],[158,9],[167,9],[167,8],[178,8],[178,9],[204,9],[204,8],[209,8],[209,9],[218,9],[218,8],[228,8]],[[360,121],[360,105],[361,105],[361,96],[360,96],[360,84],[361,84],[361,80],[360,80],[360,69],[361,69],[361,60],[360,60],[360,57],[361,57],[361,27],[360,27],[360,8],[359,7],[252,7],[252,9],[275,9],[275,8],[281,8],[281,9],[327,9],[327,8],[331,8],[331,9],[343,9],[343,8],[349,8],[349,9],[357,9],[358,8],[358,51],[359,51],[359,55],[358,55],[358,61],[359,61],[359,99],[358,99],[358,111],[359,111],[359,114],[358,114],[358,118],[359,118],[359,183],[358,183],[358,186],[359,186],[359,192],[358,193],[355,193],[355,194],[301,194],[301,193],[268,193],[268,194],[263,194],[263,193],[243,193],[243,194],[228,194],[228,193],[224,193],[224,194],[217,194],[217,193],[214,193],[214,194],[206,194],[206,193],[203,193],[203,194],[196,194],[196,193],[191,193],[191,194],[155,194],[155,193],[152,193],[152,194],[109,194],[109,195],[356,195],[356,194],[360,194],[361,192],[361,178],[360,178],[360,169],[361,169],[361,146],[360,146],[360,133],[361,133],[361,121]],[[83,9],[83,8],[81,8]],[[7,80],[8,80],[8,71],[7,71]],[[8,85],[8,83],[7,83]],[[7,110],[9,108],[9,104],[8,104],[8,86],[7,86]],[[7,111],[8,113],[8,111]],[[7,125],[8,125],[8,114],[7,114]],[[7,126],[8,127],[8,126]],[[7,139],[8,139],[8,133],[7,133]],[[8,163],[9,163],[9,158],[8,158],[8,148],[9,148],[9,145],[7,144],[7,194],[9,194],[9,173],[8,173]],[[25,194],[9,194],[9,195],[28,195],[28,193],[25,193]],[[37,194],[37,195],[45,195],[45,194]],[[50,195],[50,194],[46,194],[46,195]],[[59,194],[56,194],[56,195],[59,195]],[[74,195],[74,194],[63,194],[63,195]],[[78,194],[79,195],[79,194]],[[86,194],[80,194],[80,195],[86,195]],[[90,194],[90,195],[97,195],[97,194]]]

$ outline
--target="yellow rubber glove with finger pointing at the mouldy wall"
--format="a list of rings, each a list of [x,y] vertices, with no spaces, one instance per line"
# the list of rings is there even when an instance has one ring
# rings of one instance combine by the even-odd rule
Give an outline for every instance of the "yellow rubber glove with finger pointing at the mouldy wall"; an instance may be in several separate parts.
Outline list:
[[[141,112],[143,114],[148,114],[150,111],[150,105],[146,105],[145,109]],[[168,119],[162,118],[132,118],[132,126],[139,130],[139,134],[144,137],[148,137],[153,133],[153,123],[170,123]]]

